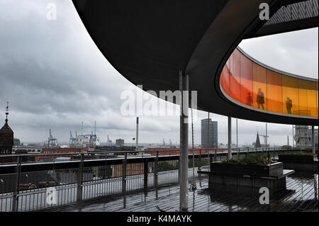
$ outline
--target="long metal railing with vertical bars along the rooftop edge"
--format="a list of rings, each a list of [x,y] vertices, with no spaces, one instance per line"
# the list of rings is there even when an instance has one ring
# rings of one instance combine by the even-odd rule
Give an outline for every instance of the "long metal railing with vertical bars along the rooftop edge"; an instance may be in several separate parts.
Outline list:
[[[233,157],[272,152],[273,156],[291,149],[233,149]],[[294,150],[296,151],[296,150]],[[88,200],[123,196],[179,182],[179,151],[121,151],[80,154],[18,154],[16,162],[0,164],[0,211],[34,211],[63,205],[84,205]],[[163,154],[164,153],[164,154]],[[30,157],[50,157],[34,162]],[[60,161],[59,158],[64,157]],[[65,159],[68,157],[69,159]],[[227,158],[226,149],[195,149],[197,170],[209,162]],[[189,149],[189,180],[192,180],[193,152]]]

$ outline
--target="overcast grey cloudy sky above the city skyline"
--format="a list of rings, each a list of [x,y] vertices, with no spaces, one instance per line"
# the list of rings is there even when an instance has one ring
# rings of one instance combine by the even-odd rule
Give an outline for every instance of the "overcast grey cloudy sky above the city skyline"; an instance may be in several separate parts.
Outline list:
[[[57,20],[48,21],[47,3],[57,5]],[[101,55],[70,0],[0,0],[0,122],[10,102],[9,125],[22,142],[47,140],[49,128],[60,142],[69,131],[94,130],[102,142],[135,137],[135,117],[120,113],[121,93],[135,86]],[[318,77],[318,28],[245,40],[243,50],[277,69]],[[172,107],[172,106],[171,106]],[[1,110],[2,109],[2,110]],[[2,115],[2,116],[1,116]],[[198,111],[195,143],[201,141]],[[227,117],[218,120],[218,142],[227,142]],[[4,121],[2,121],[4,123]],[[1,123],[0,123],[1,124]],[[1,126],[1,125],[0,125]],[[238,120],[240,144],[264,133],[265,123]],[[268,123],[269,142],[285,145],[291,125]],[[179,142],[179,117],[140,117],[140,142]],[[235,142],[235,119],[233,119]]]

